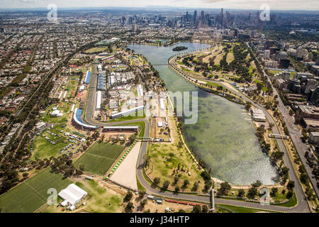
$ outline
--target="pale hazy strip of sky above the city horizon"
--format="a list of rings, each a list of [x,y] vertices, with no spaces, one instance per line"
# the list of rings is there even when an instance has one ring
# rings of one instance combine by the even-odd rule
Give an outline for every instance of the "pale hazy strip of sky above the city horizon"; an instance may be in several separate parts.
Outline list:
[[[319,10],[319,0],[0,0],[0,9],[47,8],[56,4],[60,8],[85,7],[146,7],[177,6],[210,9]]]

